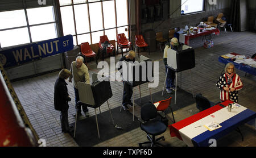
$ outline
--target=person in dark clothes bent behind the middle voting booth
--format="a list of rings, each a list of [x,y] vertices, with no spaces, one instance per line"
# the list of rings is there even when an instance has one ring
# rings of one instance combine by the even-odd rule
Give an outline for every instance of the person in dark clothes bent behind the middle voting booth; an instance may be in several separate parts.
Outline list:
[[[129,51],[128,55],[123,56],[119,61],[127,61],[134,62],[135,61],[135,52]],[[122,69],[122,65],[118,70]],[[122,75],[122,73],[121,73]],[[123,110],[129,110],[128,106],[133,107],[133,103],[131,103],[131,96],[133,95],[133,87],[123,82]]]

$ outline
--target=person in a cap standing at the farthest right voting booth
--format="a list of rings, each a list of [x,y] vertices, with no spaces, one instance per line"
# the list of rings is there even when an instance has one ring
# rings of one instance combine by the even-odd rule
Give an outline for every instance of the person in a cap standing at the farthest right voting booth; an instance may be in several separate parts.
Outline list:
[[[163,61],[164,61],[164,65],[166,66],[166,73],[168,70],[168,74],[167,74],[167,78],[166,78],[167,93],[172,93],[172,90],[175,90],[175,86],[174,86],[175,72],[174,72],[174,70],[168,68],[168,66],[167,66],[167,49],[171,48],[171,49],[174,49],[175,51],[177,51],[178,45],[179,45],[179,42],[178,42],[177,38],[172,38],[172,40],[170,42],[170,46],[166,45],[166,48],[164,48]]]

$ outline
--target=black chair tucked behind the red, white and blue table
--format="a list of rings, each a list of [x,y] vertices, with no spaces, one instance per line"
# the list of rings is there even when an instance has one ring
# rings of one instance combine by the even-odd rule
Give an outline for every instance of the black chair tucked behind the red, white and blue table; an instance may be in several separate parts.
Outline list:
[[[201,93],[196,94],[196,107],[199,111],[204,111],[218,103],[210,102],[207,98],[203,97]]]

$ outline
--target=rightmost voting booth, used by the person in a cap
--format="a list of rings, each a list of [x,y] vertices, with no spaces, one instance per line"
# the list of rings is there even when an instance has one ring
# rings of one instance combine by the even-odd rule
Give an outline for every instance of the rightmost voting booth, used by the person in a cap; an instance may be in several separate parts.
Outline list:
[[[167,50],[167,66],[168,68],[175,71],[176,75],[176,84],[175,84],[175,104],[176,104],[176,92],[177,92],[177,73],[180,72],[180,82],[181,82],[181,72],[184,70],[189,70],[191,75],[191,69],[195,68],[195,49],[189,47],[188,45],[179,45],[177,51],[168,48]],[[167,69],[167,73],[168,73]],[[166,73],[166,78],[167,78]],[[164,87],[166,86],[166,80],[164,81]],[[191,75],[191,86],[192,86],[192,75]],[[163,95],[162,92],[162,95]],[[192,86],[193,94],[193,86]]]

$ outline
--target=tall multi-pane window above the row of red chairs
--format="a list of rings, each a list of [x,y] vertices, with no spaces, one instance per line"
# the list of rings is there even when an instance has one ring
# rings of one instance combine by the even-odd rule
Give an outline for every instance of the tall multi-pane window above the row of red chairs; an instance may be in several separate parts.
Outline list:
[[[100,36],[129,38],[127,0],[59,0],[63,34],[73,35],[75,45],[98,43]]]

